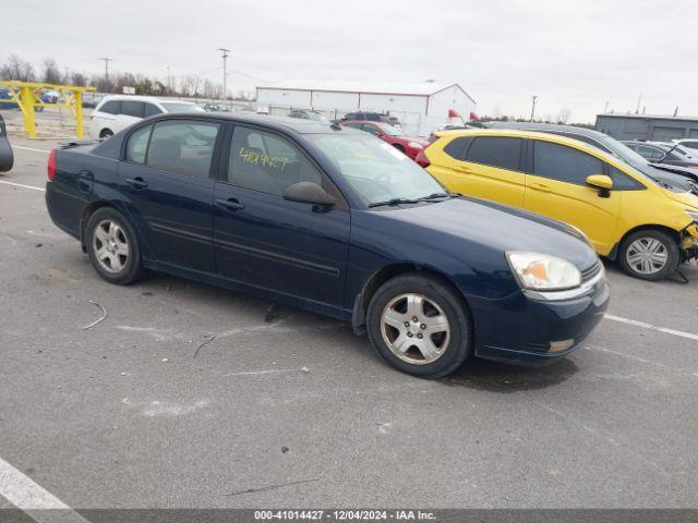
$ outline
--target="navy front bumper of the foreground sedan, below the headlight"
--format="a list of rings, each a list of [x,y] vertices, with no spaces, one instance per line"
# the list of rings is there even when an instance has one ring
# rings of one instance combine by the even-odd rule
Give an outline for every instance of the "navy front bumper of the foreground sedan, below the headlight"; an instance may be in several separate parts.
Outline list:
[[[516,292],[501,300],[468,297],[476,355],[515,365],[546,365],[574,352],[601,321],[611,290],[605,277],[585,295],[559,301]]]

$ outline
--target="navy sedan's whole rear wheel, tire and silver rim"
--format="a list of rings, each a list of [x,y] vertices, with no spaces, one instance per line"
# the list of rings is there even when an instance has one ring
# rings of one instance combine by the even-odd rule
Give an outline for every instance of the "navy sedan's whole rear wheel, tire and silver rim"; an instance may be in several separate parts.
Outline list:
[[[85,224],[87,256],[97,273],[109,283],[128,285],[143,273],[135,230],[112,207],[97,209]]]

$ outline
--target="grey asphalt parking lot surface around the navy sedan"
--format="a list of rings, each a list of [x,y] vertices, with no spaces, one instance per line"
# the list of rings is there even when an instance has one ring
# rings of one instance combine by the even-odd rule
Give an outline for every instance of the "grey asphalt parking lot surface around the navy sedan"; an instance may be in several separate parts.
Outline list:
[[[12,142],[0,460],[67,506],[698,503],[695,264],[688,283],[606,264],[611,317],[554,366],[420,380],[334,319],[163,275],[106,283],[46,212],[53,143]]]

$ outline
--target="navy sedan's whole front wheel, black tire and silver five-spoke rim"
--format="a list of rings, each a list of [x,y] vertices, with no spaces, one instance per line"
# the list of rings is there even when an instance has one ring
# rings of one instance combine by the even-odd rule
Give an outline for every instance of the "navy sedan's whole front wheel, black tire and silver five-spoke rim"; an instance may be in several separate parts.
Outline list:
[[[369,304],[366,330],[371,345],[386,362],[421,378],[453,373],[472,350],[467,305],[449,285],[430,275],[411,272],[381,285]]]

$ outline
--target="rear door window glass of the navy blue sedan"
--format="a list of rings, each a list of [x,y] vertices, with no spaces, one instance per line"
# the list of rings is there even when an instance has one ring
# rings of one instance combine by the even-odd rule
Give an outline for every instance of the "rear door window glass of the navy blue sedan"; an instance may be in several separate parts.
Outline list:
[[[194,120],[157,122],[147,149],[147,166],[207,178],[218,127],[217,123]]]

